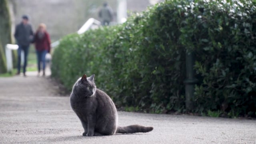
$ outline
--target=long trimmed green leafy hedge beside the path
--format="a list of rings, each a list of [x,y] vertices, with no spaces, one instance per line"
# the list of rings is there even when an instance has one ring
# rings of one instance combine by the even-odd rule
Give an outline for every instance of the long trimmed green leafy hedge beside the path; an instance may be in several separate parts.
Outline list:
[[[122,25],[62,39],[52,76],[68,90],[82,74],[117,106],[186,112],[185,53],[196,53],[194,112],[230,117],[256,112],[256,2],[168,0]]]

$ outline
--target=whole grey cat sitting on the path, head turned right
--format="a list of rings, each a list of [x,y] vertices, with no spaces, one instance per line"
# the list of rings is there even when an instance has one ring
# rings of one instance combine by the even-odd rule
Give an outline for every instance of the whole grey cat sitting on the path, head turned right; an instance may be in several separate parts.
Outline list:
[[[153,127],[140,125],[118,126],[116,106],[111,98],[94,84],[94,74],[84,74],[73,86],[70,104],[84,128],[83,136],[117,133],[150,132]]]

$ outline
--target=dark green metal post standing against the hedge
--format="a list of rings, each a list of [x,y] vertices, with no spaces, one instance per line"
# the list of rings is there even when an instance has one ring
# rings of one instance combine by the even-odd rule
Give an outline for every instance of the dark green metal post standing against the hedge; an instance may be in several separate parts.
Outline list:
[[[187,52],[186,53],[186,80],[184,81],[187,112],[192,111],[194,107],[194,99],[195,99],[194,88],[195,88],[196,82],[198,81],[195,78],[194,64],[195,64],[195,53]]]

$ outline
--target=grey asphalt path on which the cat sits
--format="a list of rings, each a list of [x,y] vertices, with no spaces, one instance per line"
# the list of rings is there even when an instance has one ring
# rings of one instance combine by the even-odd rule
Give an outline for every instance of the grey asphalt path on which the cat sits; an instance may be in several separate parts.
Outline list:
[[[0,78],[1,144],[256,144],[256,120],[118,112],[119,125],[153,126],[148,133],[82,136],[83,128],[48,77]]]

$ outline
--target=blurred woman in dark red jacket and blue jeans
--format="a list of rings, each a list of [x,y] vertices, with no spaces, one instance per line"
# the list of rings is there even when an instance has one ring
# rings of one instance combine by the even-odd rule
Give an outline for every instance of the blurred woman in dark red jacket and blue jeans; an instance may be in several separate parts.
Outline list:
[[[43,64],[43,76],[45,76],[45,55],[50,53],[51,40],[48,32],[46,31],[46,25],[40,24],[34,36],[34,42],[36,46],[37,62],[38,62],[38,76],[40,76],[40,63]]]

